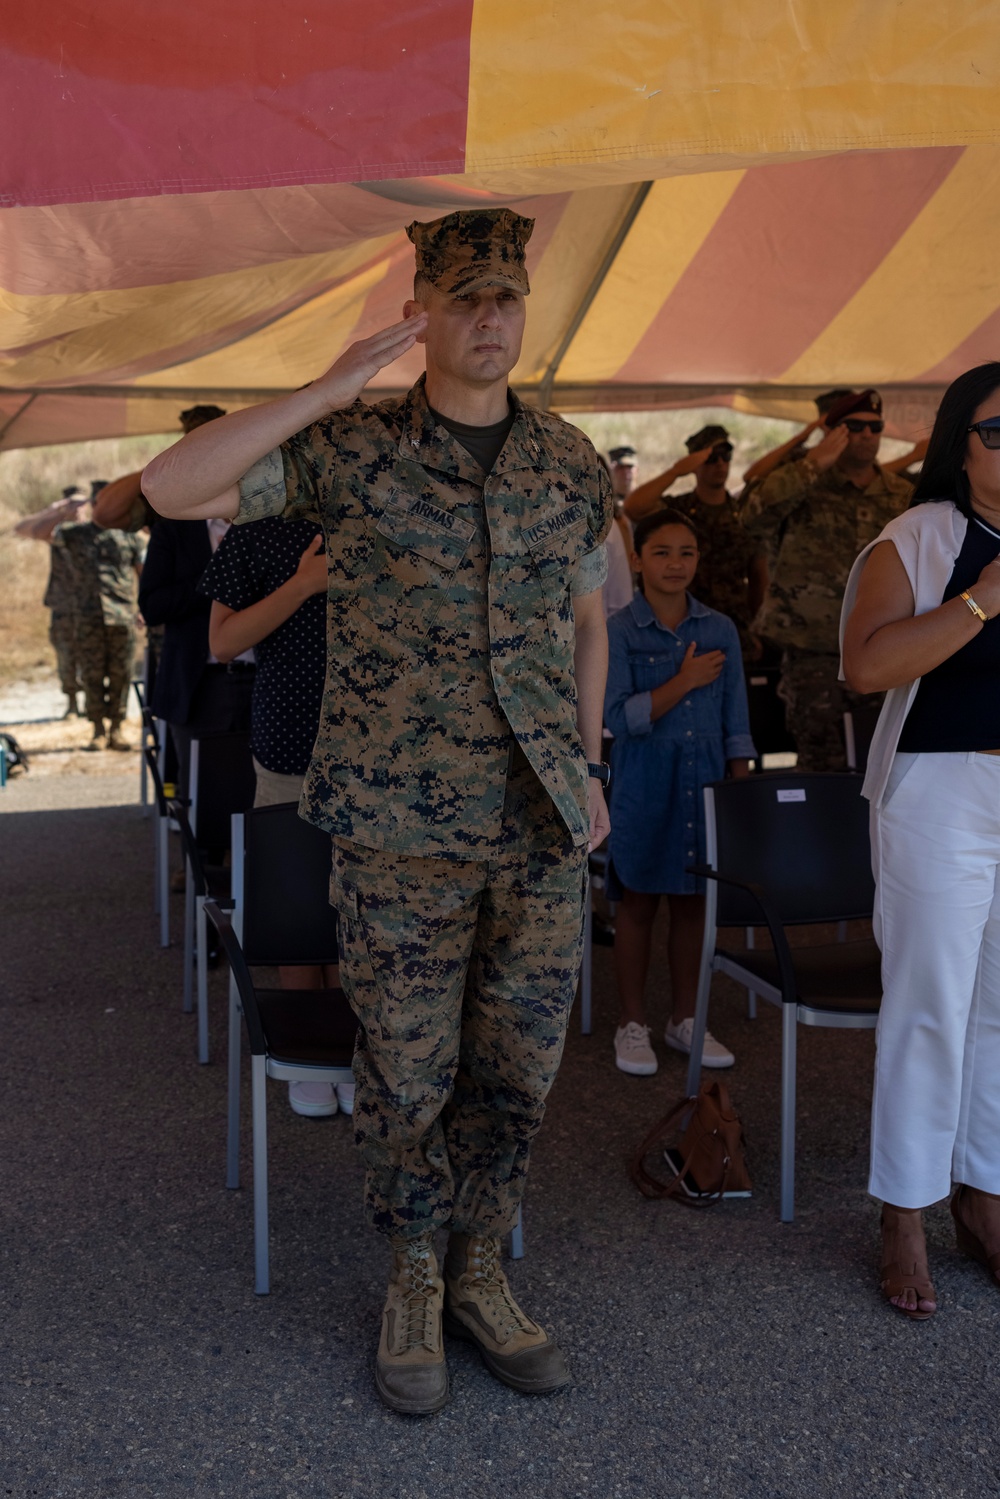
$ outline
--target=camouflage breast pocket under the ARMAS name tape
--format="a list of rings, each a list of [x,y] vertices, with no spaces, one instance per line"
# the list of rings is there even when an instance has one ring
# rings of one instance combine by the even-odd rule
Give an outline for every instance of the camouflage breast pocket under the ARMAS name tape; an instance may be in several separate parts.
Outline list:
[[[375,522],[372,555],[358,580],[360,616],[400,642],[423,640],[474,535],[471,520],[429,501],[390,501]]]

